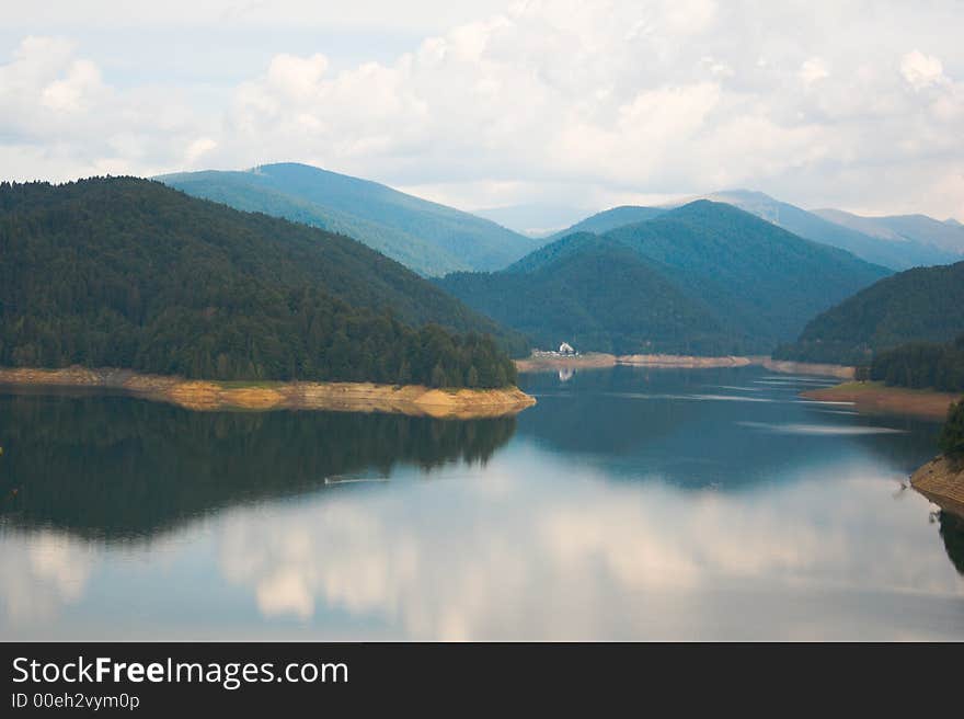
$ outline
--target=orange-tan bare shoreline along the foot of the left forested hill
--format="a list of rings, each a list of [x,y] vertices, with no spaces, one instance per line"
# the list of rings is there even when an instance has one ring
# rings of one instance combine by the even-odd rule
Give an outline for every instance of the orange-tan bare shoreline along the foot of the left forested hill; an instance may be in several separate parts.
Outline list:
[[[2,386],[114,390],[194,411],[287,409],[481,419],[517,414],[536,403],[535,398],[518,387],[431,389],[421,385],[375,383],[214,381],[79,366],[0,368]]]

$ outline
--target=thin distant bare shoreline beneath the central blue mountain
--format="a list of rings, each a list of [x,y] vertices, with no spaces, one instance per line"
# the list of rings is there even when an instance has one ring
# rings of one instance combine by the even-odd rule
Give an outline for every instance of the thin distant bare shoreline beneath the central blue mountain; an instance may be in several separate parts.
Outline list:
[[[814,375],[852,379],[854,368],[845,365],[813,364],[807,362],[790,362],[772,360],[768,356],[723,355],[698,356],[680,354],[624,354],[615,355],[602,352],[590,352],[573,356],[554,354],[532,354],[525,360],[516,360],[516,369],[520,373],[553,372],[556,369],[600,369],[616,366],[705,369],[712,367],[748,367],[760,366],[770,372],[790,375]]]

